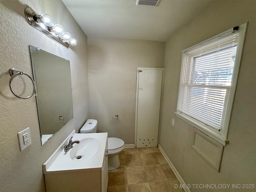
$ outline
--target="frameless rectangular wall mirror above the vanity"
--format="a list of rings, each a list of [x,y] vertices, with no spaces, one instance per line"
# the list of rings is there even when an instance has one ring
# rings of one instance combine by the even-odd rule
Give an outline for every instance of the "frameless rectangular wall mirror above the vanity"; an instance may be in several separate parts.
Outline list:
[[[70,61],[29,46],[42,145],[73,118]]]

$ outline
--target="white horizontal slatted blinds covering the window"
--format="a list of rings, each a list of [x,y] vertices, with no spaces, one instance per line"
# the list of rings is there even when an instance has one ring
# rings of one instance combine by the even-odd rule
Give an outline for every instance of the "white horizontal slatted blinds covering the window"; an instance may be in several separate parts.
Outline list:
[[[232,74],[238,32],[182,52],[177,112],[221,132]]]

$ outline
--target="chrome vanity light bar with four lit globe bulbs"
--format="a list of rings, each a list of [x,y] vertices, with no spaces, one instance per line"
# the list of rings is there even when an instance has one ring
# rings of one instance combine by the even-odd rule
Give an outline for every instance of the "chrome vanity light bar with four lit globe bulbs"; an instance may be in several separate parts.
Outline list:
[[[24,9],[24,12],[28,23],[32,27],[62,44],[66,48],[68,48],[69,45],[76,46],[77,41],[72,38],[70,33],[65,32],[64,28],[60,24],[54,24],[54,18],[50,14],[44,13],[39,15],[29,6]]]

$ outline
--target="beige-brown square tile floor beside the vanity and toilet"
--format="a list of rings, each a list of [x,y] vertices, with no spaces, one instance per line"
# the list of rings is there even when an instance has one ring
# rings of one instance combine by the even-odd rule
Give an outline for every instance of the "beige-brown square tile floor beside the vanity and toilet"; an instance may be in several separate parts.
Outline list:
[[[158,147],[125,148],[120,167],[108,171],[108,192],[183,192]]]

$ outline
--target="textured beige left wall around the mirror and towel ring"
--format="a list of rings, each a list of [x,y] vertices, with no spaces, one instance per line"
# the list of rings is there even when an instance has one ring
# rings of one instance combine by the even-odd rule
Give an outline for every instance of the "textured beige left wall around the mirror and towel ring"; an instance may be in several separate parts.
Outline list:
[[[54,42],[24,18],[24,4],[36,12],[48,12],[56,23],[78,40],[65,48]],[[10,67],[32,75],[28,45],[70,60],[74,118],[43,146],[36,110],[36,98],[16,98],[9,89]],[[73,130],[89,118],[87,37],[60,0],[0,1],[0,191],[45,191],[42,164]],[[60,71],[61,72],[61,69]],[[20,80],[22,82],[22,80]],[[17,133],[30,127],[32,144],[20,152]]]

